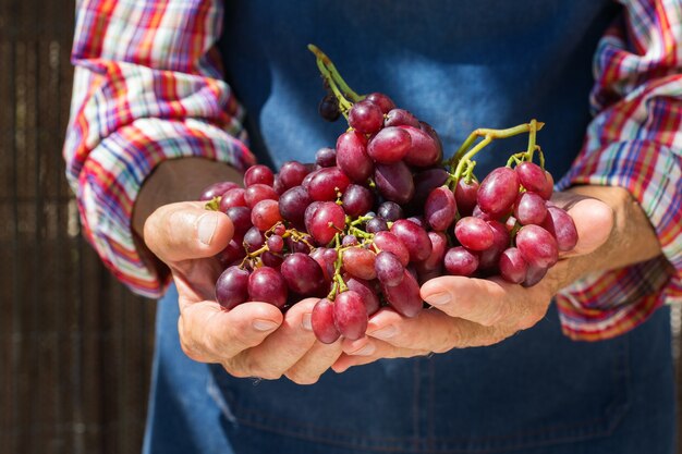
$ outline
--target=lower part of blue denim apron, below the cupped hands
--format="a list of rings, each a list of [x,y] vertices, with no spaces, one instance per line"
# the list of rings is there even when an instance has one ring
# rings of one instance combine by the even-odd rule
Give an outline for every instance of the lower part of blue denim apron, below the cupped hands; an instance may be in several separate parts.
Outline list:
[[[176,293],[159,302],[144,452],[672,454],[669,310],[619,339],[571,342],[550,308],[486,348],[381,360],[310,386],[186,358]]]

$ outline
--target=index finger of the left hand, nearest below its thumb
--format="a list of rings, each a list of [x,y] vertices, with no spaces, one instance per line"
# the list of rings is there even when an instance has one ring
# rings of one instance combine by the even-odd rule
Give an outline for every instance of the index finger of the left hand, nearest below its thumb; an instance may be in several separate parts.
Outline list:
[[[215,302],[181,305],[178,330],[185,354],[202,363],[223,363],[259,345],[282,323],[282,312],[266,303],[245,303],[226,311]]]

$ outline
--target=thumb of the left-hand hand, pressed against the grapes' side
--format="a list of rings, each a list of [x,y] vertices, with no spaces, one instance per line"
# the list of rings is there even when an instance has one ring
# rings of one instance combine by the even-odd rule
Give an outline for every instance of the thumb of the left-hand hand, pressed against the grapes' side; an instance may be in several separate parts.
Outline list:
[[[165,205],[147,218],[144,241],[166,263],[211,257],[224,249],[234,226],[227,214],[200,201]]]

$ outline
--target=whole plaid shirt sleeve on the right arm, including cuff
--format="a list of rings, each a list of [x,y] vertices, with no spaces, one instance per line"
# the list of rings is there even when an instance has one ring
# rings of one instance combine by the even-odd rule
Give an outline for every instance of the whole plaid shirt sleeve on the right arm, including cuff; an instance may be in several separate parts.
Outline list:
[[[682,302],[682,5],[621,0],[623,14],[599,42],[595,118],[559,188],[626,188],[655,229],[662,256],[589,275],[558,295],[564,333],[609,339],[666,303]]]

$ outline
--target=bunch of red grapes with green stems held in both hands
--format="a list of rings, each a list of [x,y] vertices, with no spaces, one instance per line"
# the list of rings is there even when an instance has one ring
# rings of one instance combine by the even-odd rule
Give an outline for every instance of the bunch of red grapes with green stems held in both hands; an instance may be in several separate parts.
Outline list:
[[[549,201],[551,175],[533,162],[536,154],[544,162],[535,145],[541,123],[476,130],[443,162],[433,127],[383,94],[357,96],[312,50],[330,91],[320,114],[343,114],[349,128],[315,163],[289,161],[278,173],[257,164],[243,187],[223,182],[204,191],[207,207],[234,224],[219,255],[222,307],[257,300],[285,310],[317,297],[317,339],[356,340],[383,306],[415,317],[424,307],[419,285],[431,278],[501,277],[529,286],[575,246],[571,217]],[[529,133],[528,150],[478,182],[474,155],[521,132]]]

